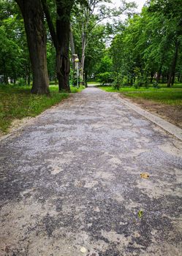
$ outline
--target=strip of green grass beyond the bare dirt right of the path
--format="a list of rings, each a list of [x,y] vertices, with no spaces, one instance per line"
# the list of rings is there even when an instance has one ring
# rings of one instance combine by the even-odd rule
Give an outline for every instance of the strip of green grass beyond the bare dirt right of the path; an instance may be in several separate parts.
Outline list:
[[[127,97],[150,99],[167,105],[182,106],[182,91],[151,91],[140,93],[124,93]]]

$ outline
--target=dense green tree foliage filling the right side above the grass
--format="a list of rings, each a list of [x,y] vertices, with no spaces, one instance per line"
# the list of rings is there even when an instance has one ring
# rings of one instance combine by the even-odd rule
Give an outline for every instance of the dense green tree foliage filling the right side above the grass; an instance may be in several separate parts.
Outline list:
[[[158,79],[163,75],[163,80],[167,82],[170,70],[176,70],[176,75],[182,78],[181,11],[179,0],[151,0],[140,15],[126,20],[110,46],[113,69],[117,74],[115,84],[121,77],[119,86],[128,83],[136,88],[147,88],[149,78],[152,83],[157,74]],[[175,74],[172,76],[175,80]]]

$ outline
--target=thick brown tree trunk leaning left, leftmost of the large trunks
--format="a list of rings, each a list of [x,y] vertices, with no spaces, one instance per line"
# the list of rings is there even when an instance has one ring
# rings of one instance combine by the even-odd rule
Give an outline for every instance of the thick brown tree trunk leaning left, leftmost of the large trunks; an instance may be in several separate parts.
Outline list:
[[[33,73],[33,94],[49,94],[44,13],[40,0],[15,0],[22,12]]]

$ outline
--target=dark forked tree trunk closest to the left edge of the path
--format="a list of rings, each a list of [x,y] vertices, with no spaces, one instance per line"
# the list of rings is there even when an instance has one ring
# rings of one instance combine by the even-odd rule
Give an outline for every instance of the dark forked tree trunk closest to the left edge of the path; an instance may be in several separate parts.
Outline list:
[[[50,17],[48,4],[42,0],[43,10],[50,30],[53,44],[56,48],[56,73],[58,78],[59,91],[70,92],[69,87],[69,36],[70,36],[70,15],[74,0],[56,0],[56,29]]]

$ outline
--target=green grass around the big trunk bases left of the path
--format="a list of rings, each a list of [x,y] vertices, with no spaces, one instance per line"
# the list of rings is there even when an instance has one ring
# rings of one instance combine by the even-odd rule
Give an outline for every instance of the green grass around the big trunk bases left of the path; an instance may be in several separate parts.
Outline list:
[[[1,132],[7,133],[14,119],[37,116],[43,110],[69,97],[67,93],[58,93],[58,86],[50,86],[50,97],[33,95],[30,90],[31,87],[28,86],[0,86]],[[74,93],[81,90],[83,88],[75,89],[71,86]]]

